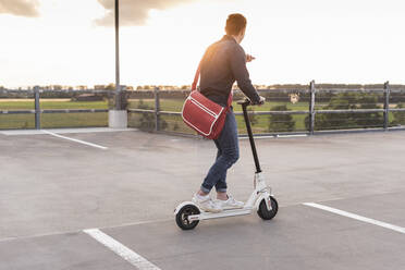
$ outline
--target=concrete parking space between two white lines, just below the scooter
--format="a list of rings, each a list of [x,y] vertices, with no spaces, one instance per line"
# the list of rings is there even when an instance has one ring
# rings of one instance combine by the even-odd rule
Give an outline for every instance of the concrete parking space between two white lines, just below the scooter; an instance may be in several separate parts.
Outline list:
[[[181,232],[172,222],[106,233],[161,269],[401,269],[405,242],[396,232],[317,211],[282,208],[257,217],[202,222]],[[400,237],[400,238],[398,238]]]

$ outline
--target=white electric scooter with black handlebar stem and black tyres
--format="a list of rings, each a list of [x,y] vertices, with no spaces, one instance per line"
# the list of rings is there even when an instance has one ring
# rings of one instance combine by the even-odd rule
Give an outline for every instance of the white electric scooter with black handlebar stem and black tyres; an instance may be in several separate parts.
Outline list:
[[[235,216],[249,214],[254,210],[263,220],[271,220],[275,217],[279,205],[271,193],[271,187],[267,185],[265,176],[261,173],[259,158],[256,151],[256,145],[251,133],[250,121],[247,115],[247,107],[250,100],[237,102],[242,106],[243,115],[246,123],[247,134],[249,136],[251,152],[255,160],[256,173],[254,176],[254,191],[243,208],[224,209],[221,212],[207,212],[198,208],[193,201],[183,201],[174,209],[175,222],[182,230],[193,230],[200,220],[228,218]]]

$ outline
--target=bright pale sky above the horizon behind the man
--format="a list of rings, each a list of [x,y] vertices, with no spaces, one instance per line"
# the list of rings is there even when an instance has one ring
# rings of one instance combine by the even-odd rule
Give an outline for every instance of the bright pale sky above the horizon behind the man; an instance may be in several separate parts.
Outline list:
[[[121,84],[189,85],[230,13],[254,84],[405,84],[403,0],[120,0]],[[113,0],[0,0],[0,86],[115,82]]]

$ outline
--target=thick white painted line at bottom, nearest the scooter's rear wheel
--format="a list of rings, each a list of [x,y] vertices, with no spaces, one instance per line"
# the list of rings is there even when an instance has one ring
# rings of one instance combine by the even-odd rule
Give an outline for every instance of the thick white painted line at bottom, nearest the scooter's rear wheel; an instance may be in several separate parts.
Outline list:
[[[98,229],[84,230],[83,232],[100,242],[102,245],[128,261],[134,267],[137,267],[139,270],[160,270],[160,268]]]

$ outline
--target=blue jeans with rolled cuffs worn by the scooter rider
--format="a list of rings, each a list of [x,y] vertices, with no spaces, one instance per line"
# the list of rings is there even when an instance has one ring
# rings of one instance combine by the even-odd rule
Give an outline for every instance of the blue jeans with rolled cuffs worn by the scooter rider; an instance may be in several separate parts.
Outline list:
[[[240,146],[237,140],[237,125],[232,107],[228,111],[225,123],[220,136],[213,140],[218,148],[217,159],[205,177],[201,191],[209,193],[213,186],[217,192],[226,192],[226,171],[240,158]]]

